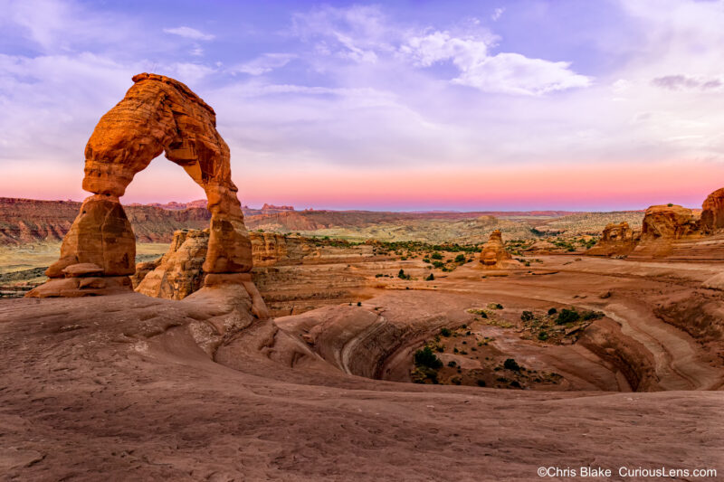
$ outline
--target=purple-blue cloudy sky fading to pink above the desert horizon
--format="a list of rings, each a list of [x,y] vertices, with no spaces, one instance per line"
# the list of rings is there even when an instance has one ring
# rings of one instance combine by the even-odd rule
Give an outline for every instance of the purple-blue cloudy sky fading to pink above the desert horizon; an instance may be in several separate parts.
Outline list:
[[[0,196],[81,200],[144,71],[205,99],[243,204],[698,207],[724,186],[724,0],[0,0]],[[204,197],[165,157],[123,203]]]

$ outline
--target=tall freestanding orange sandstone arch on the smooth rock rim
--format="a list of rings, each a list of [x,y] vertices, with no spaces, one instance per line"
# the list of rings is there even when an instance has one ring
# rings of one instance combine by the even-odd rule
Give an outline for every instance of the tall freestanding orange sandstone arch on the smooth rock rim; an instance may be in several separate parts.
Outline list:
[[[90,136],[82,186],[93,195],[63,239],[61,258],[46,271],[52,280],[29,296],[97,295],[130,287],[136,244],[119,197],[133,176],[162,153],[204,188],[212,214],[206,283],[252,269],[252,245],[231,179],[229,147],[216,131],[214,109],[178,80],[141,73],[133,81]],[[231,277],[251,282],[247,278]],[[53,279],[65,282],[53,285]]]

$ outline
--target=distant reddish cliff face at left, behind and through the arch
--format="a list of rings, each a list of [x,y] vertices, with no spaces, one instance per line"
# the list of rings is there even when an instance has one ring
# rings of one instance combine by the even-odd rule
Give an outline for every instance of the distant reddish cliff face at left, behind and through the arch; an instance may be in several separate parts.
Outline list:
[[[81,203],[74,201],[0,198],[0,245],[61,241],[80,209]],[[131,205],[124,209],[139,242],[171,242],[176,230],[204,229],[211,219],[211,214],[199,207],[169,211]]]

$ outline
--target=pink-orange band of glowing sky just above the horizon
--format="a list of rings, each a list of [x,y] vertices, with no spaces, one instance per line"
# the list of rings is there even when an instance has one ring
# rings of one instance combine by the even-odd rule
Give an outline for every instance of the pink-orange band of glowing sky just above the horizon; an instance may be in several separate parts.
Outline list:
[[[291,204],[298,209],[369,210],[628,210],[656,203],[700,207],[724,180],[724,165],[716,163],[649,165],[541,165],[466,169],[339,169],[319,171],[273,170],[252,175],[234,173],[242,203]],[[13,197],[81,200],[81,172],[59,176],[43,171],[28,179],[22,170],[10,170]],[[164,179],[159,183],[158,179]],[[76,186],[70,196],[67,185]],[[122,201],[165,203],[204,197],[180,167],[159,157],[139,173]]]

